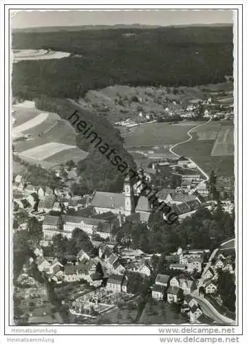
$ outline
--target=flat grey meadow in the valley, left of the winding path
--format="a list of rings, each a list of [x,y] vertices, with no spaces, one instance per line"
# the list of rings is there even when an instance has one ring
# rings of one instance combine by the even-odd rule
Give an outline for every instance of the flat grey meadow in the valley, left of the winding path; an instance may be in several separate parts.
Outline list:
[[[167,123],[152,123],[133,128],[125,136],[127,147],[143,147],[155,144],[175,144],[178,140],[186,140],[187,131],[197,125],[169,125]]]

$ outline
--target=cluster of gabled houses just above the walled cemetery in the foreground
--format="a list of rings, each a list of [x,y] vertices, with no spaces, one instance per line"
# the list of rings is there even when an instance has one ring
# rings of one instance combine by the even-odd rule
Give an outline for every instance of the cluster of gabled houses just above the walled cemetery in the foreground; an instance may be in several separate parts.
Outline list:
[[[76,256],[65,255],[66,264],[54,257],[44,257],[42,248],[36,248],[34,254],[39,271],[50,281],[62,283],[83,280],[90,286],[105,286],[111,292],[127,292],[125,272],[138,272],[146,277],[151,275],[147,261],[140,257],[142,251],[129,251],[130,255],[127,255],[126,250],[117,254],[113,248],[102,243],[98,246],[98,256],[90,257],[84,250],[80,250]],[[129,265],[129,261],[135,268]]]

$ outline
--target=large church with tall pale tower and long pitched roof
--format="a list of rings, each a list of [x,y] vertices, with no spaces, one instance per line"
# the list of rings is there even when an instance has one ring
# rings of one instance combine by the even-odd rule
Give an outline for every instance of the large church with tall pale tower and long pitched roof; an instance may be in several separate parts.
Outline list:
[[[152,208],[145,196],[138,195],[135,186],[129,179],[125,178],[124,191],[122,193],[108,193],[96,191],[92,200],[96,212],[123,215],[125,218],[135,219],[140,222],[149,222]]]

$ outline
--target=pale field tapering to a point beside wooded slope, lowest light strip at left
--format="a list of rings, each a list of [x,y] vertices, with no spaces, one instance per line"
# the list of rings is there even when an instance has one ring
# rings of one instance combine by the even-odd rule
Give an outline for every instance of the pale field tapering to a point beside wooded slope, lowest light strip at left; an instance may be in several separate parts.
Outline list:
[[[69,146],[68,144],[63,144],[60,142],[49,142],[47,144],[42,144],[41,146],[28,149],[27,151],[23,151],[19,154],[19,156],[21,158],[45,160],[46,158],[49,158],[51,155],[72,148],[74,147]]]

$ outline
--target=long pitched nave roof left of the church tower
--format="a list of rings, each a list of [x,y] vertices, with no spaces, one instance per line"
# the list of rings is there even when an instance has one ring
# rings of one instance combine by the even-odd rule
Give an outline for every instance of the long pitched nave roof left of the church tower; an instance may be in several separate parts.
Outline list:
[[[92,206],[99,208],[125,208],[125,195],[123,193],[97,191],[92,200]]]

